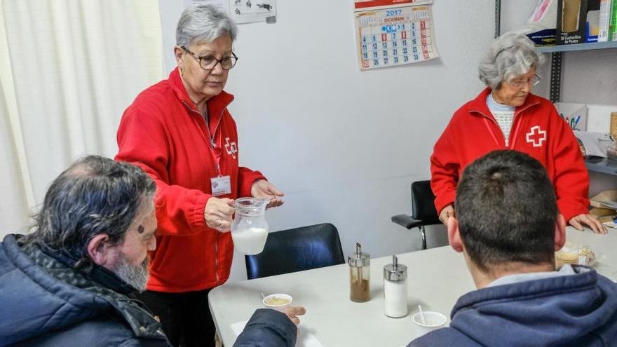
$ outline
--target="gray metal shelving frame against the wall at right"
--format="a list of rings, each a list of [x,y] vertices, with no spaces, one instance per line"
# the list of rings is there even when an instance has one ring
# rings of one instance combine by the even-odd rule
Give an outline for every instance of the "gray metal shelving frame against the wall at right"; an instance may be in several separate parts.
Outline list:
[[[501,0],[495,0],[495,37],[501,34]],[[541,53],[551,53],[550,57],[550,102],[559,102],[561,99],[562,81],[562,53],[576,50],[595,50],[617,48],[617,41],[578,43],[573,45],[557,45],[538,47]],[[609,158],[590,157],[585,159],[587,169],[617,176],[617,161]]]

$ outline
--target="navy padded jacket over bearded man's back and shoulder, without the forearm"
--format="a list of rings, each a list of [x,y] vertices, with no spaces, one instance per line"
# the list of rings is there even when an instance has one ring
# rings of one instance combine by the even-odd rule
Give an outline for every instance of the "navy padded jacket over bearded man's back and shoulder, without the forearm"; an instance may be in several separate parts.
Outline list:
[[[113,273],[86,275],[42,249],[0,243],[0,346],[170,346]]]

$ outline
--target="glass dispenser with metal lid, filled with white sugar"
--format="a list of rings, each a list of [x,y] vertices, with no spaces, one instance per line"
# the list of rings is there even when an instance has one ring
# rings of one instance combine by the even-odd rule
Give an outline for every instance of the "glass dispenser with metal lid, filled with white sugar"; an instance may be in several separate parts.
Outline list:
[[[384,266],[384,313],[391,318],[407,315],[407,266],[398,264],[396,255]]]

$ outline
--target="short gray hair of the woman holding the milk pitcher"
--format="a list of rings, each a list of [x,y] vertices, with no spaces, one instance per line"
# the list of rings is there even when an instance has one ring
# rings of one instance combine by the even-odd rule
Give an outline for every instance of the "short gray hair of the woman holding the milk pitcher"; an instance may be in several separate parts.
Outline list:
[[[210,43],[224,34],[231,37],[231,42],[236,41],[238,27],[229,15],[215,6],[197,4],[188,7],[180,15],[176,27],[176,44],[189,47],[196,42]]]

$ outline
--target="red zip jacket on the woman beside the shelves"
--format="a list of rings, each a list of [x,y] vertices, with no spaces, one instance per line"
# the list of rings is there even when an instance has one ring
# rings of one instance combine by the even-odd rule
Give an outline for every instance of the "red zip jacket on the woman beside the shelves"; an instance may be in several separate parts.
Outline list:
[[[430,157],[430,186],[435,207],[454,203],[465,167],[496,149],[515,149],[540,161],[555,186],[557,206],[566,221],[588,213],[589,176],[569,125],[550,101],[529,94],[515,109],[509,144],[487,106],[489,88],[454,112]]]

